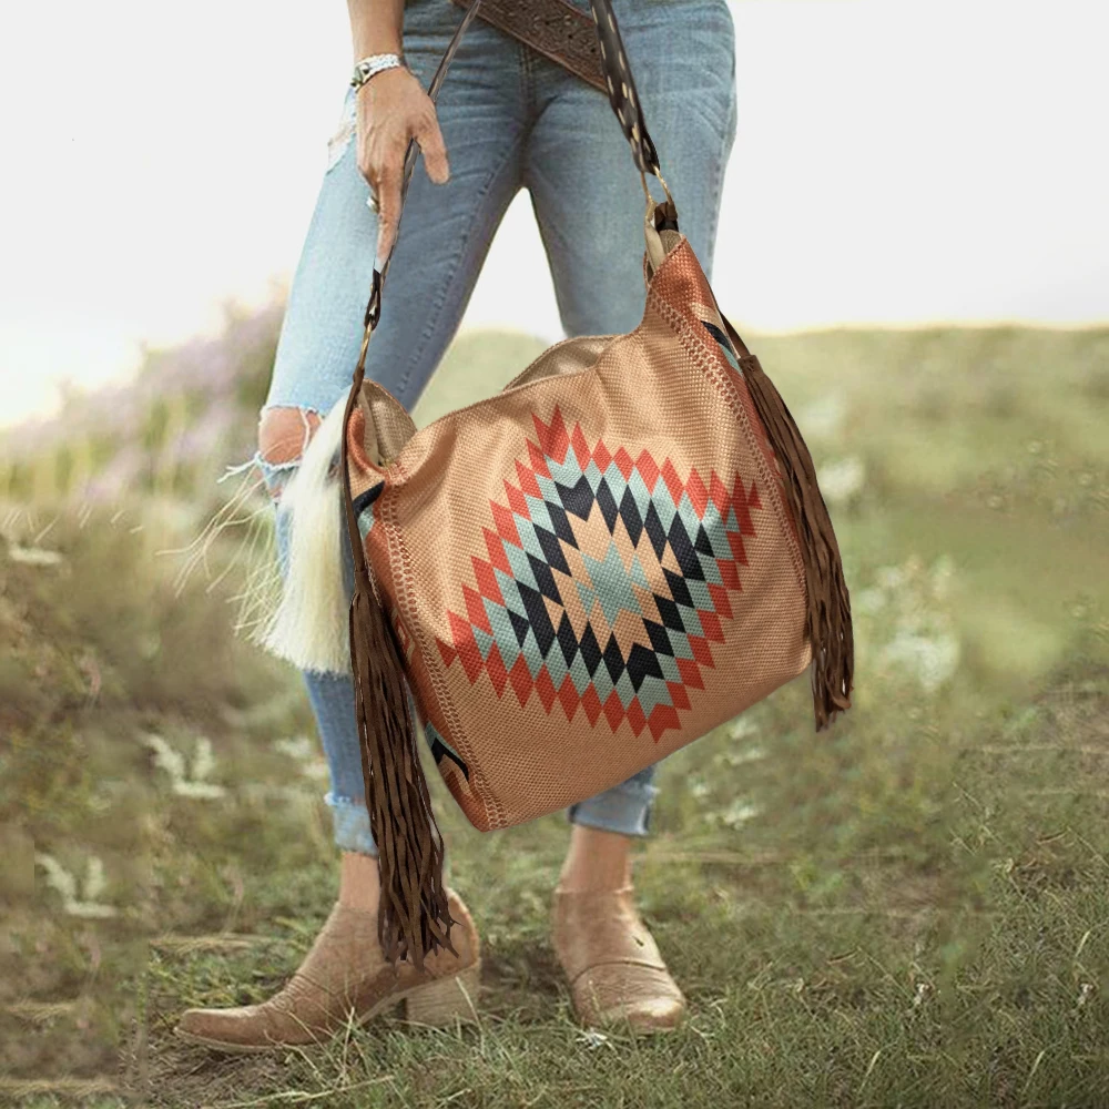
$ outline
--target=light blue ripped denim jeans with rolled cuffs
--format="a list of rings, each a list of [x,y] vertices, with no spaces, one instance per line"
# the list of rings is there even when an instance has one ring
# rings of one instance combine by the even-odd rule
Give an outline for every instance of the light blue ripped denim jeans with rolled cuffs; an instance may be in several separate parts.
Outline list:
[[[588,0],[571,0],[587,14]],[[613,0],[644,119],[679,224],[712,276],[721,182],[735,136],[735,38],[726,0]],[[404,49],[424,87],[462,9],[409,0]],[[266,408],[325,414],[350,387],[363,337],[377,216],[350,138],[354,91],[330,136],[323,185],[289,289]],[[501,217],[527,189],[568,336],[611,335],[640,322],[643,192],[608,96],[476,19],[437,101],[450,180],[413,173],[366,374],[411,410],[462,318]],[[663,199],[657,181],[652,192]],[[520,274],[540,281],[539,274]],[[523,368],[522,366],[520,367]],[[255,461],[272,495],[296,462]],[[347,581],[353,562],[344,528]],[[286,537],[277,532],[284,567]],[[327,764],[335,843],[376,855],[364,801],[349,675],[305,672]],[[409,693],[410,695],[410,693]],[[573,823],[648,834],[654,766],[567,810]]]

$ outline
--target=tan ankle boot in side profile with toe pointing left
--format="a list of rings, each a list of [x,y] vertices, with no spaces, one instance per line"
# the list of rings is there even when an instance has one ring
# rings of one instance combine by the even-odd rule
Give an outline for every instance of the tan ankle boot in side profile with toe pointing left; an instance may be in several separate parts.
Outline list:
[[[338,902],[293,977],[258,1005],[186,1009],[174,1031],[192,1044],[222,1051],[265,1051],[330,1038],[346,1025],[377,1016],[404,1000],[407,1019],[450,1025],[477,1018],[480,940],[461,898],[448,891],[457,922],[450,942],[458,952],[437,950],[424,971],[401,960],[386,962],[377,940],[377,915]]]

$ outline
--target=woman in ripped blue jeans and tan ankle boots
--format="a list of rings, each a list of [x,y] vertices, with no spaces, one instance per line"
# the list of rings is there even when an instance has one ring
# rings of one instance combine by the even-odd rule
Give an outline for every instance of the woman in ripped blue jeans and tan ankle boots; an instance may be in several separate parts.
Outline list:
[[[589,13],[588,0],[563,2]],[[521,187],[531,195],[567,334],[625,333],[643,313],[642,187],[608,96],[479,18],[433,104],[426,88],[462,10],[448,0],[348,6],[355,61],[403,51],[408,68],[352,87],[329,143],[260,419],[256,461],[275,499],[322,414],[349,389],[375,247],[384,260],[396,244],[367,376],[409,410],[454,337],[494,233]],[[682,230],[711,279],[735,134],[728,0],[613,0],[613,10]],[[413,174],[398,236],[413,136],[425,170]],[[278,529],[279,550],[282,541]],[[405,964],[395,975],[385,962],[350,679],[316,671],[304,679],[330,770],[325,801],[342,852],[338,898],[274,997],[182,1016],[180,1035],[225,1050],[319,1040],[348,1014],[366,1020],[400,999],[409,1018],[446,1022],[467,1014],[477,984],[479,937],[454,891],[457,955],[428,956],[423,975]],[[665,1029],[684,1009],[632,899],[630,848],[649,831],[654,769],[568,810],[552,942],[586,1025],[627,1018],[643,1030]]]

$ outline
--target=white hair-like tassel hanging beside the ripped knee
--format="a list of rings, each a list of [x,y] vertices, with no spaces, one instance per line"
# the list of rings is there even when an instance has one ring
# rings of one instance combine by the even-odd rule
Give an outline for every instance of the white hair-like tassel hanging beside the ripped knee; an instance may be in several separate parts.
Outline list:
[[[257,642],[299,670],[349,673],[349,598],[343,581],[343,482],[336,456],[343,442],[344,396],[308,442],[282,490],[277,511],[288,527],[288,568],[281,602]]]

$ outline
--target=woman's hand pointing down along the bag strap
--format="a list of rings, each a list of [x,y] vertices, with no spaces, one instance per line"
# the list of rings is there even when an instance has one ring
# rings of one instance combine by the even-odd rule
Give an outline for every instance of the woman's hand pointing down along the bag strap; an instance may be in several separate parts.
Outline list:
[[[358,170],[377,197],[377,257],[393,250],[400,218],[400,184],[408,142],[415,138],[427,175],[438,185],[450,176],[435,104],[414,73],[384,70],[358,90]]]

